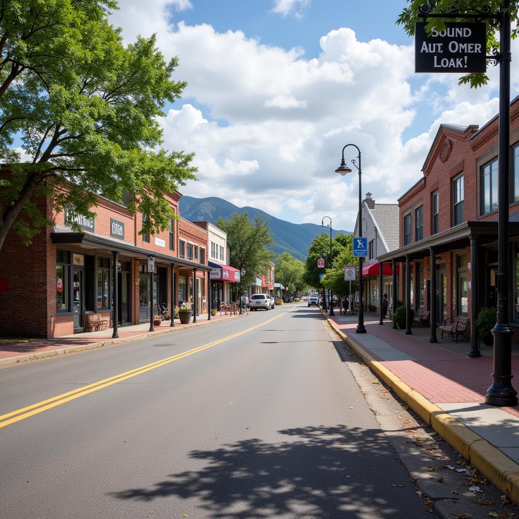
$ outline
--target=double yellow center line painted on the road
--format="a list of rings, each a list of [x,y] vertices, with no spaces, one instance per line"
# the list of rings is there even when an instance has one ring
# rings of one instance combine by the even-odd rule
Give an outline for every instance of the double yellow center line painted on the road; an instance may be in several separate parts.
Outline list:
[[[48,409],[52,409],[52,407],[56,407],[66,402],[70,402],[71,400],[75,400],[79,397],[84,397],[86,394],[93,393],[94,391],[98,391],[108,386],[112,386],[113,384],[117,384],[118,382],[122,382],[123,380],[127,380],[128,378],[136,377],[137,375],[142,375],[147,371],[155,370],[157,367],[164,366],[166,364],[169,364],[170,362],[175,362],[177,360],[183,359],[184,357],[189,357],[194,353],[198,353],[200,351],[216,346],[217,344],[224,343],[226,340],[239,337],[244,333],[251,332],[256,328],[264,326],[265,324],[268,324],[274,321],[275,319],[278,319],[283,315],[283,313],[280,313],[279,315],[273,317],[272,319],[269,319],[268,321],[256,324],[255,326],[252,326],[247,330],[243,330],[233,335],[228,335],[227,337],[224,337],[222,339],[214,340],[212,343],[204,344],[203,346],[183,351],[182,353],[177,353],[176,355],[167,357],[166,359],[158,360],[156,362],[152,362],[151,364],[146,364],[145,366],[136,367],[133,370],[126,371],[124,373],[119,373],[118,375],[114,375],[113,377],[108,377],[103,380],[99,380],[98,382],[88,384],[87,386],[82,386],[67,393],[59,394],[57,395],[57,397],[52,397],[47,400],[43,400],[42,402],[37,402],[35,404],[28,405],[27,407],[22,407],[21,409],[17,409],[16,411],[11,411],[10,413],[6,413],[5,415],[0,415],[0,429],[10,424],[14,424],[17,421],[29,418],[30,416],[36,415],[38,413],[43,413]]]

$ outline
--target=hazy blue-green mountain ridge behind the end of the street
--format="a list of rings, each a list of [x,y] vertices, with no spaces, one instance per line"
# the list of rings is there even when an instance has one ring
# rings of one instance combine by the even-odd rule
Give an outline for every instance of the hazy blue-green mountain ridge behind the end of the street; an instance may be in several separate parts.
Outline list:
[[[275,216],[253,207],[237,207],[222,198],[193,198],[183,196],[180,199],[180,215],[186,220],[209,221],[215,223],[218,217],[228,218],[233,213],[248,212],[250,218],[259,214],[269,223],[274,238],[274,245],[270,247],[275,254],[287,251],[301,261],[306,260],[308,247],[313,237],[323,231],[329,232],[327,227],[316,224],[293,224],[280,220]],[[333,236],[338,233],[350,234],[350,231],[333,230]]]

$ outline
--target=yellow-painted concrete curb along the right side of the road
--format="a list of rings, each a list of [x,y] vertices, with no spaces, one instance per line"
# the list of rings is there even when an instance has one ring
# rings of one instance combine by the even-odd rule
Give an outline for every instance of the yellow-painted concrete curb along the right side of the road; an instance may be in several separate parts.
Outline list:
[[[427,400],[424,395],[405,384],[360,345],[341,332],[324,313],[323,316],[336,335],[342,338],[403,402],[427,424],[430,424],[450,446],[468,459],[471,465],[479,470],[487,480],[504,492],[508,499],[519,504],[519,465],[517,463],[465,424]]]

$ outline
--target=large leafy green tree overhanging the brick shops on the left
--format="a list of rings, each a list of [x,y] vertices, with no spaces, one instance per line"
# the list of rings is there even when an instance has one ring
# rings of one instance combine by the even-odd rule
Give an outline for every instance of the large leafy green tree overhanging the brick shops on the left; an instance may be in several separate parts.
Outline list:
[[[1,1],[1,0],[0,0]],[[155,36],[124,45],[107,20],[112,0],[0,4],[0,249],[12,227],[25,243],[52,225],[39,211],[94,216],[96,196],[167,228],[164,195],[195,180],[193,154],[167,152],[158,118],[185,83],[172,79]],[[20,162],[15,137],[29,160]],[[75,227],[75,225],[74,225]]]

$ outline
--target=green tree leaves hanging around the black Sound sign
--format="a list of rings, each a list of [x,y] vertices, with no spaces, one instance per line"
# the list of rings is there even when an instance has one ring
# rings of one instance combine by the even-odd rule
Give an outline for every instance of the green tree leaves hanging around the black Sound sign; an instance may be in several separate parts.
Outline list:
[[[408,6],[402,10],[398,17],[397,23],[403,25],[405,32],[410,36],[413,36],[415,33],[415,22],[423,20],[423,15],[420,15],[419,8],[421,5],[424,5],[424,3],[424,0],[407,0]],[[461,12],[473,12],[474,9],[477,9],[482,12],[483,8],[486,6],[490,8],[490,12],[495,13],[498,12],[500,6],[499,0],[437,0],[430,1],[429,4],[432,7],[432,13],[449,12],[452,9],[461,9]],[[519,9],[519,4],[513,1],[510,4],[509,12],[512,27],[513,24],[516,25],[512,30],[512,39],[515,39],[518,35],[517,11]],[[426,25],[426,31],[430,32],[432,29],[445,29],[446,21],[462,21],[462,19],[430,18]],[[499,48],[499,42],[496,37],[496,26],[492,20],[483,21],[486,23],[487,27],[487,54],[490,54],[494,47]],[[473,88],[477,88],[488,83],[488,76],[482,72],[466,74],[459,79],[460,85],[465,83],[470,84]]]

